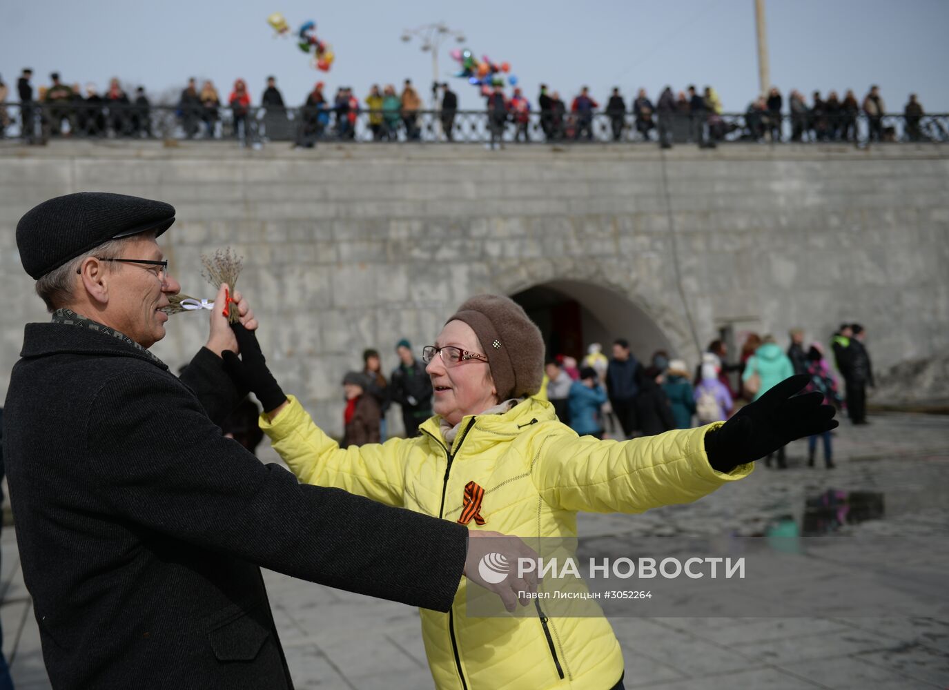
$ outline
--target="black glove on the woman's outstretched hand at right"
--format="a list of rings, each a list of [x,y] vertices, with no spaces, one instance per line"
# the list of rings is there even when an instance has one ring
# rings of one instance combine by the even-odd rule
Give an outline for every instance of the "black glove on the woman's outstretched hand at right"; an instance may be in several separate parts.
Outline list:
[[[822,404],[823,393],[794,395],[809,381],[807,374],[785,379],[738,410],[731,420],[706,434],[705,453],[709,464],[718,472],[728,473],[738,465],[773,453],[795,438],[836,429],[839,426],[833,419],[836,410]]]

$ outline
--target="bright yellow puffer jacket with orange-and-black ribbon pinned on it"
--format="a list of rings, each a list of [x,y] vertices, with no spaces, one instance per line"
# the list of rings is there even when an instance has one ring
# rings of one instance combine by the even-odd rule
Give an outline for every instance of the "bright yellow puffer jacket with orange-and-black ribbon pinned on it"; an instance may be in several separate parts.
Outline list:
[[[292,397],[272,422],[274,449],[301,481],[456,520],[465,484],[484,488],[484,529],[520,537],[576,536],[577,511],[642,513],[687,503],[752,465],[716,472],[704,451],[716,425],[630,441],[578,438],[553,405],[529,398],[501,415],[466,417],[451,448],[438,422],[416,438],[342,450]],[[421,609],[425,652],[439,690],[608,690],[623,653],[605,617],[466,618],[462,578],[452,610]]]

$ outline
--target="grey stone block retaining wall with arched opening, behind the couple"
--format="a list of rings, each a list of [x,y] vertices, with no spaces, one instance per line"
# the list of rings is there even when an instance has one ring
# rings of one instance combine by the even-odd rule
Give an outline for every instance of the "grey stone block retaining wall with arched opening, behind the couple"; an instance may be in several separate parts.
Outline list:
[[[177,207],[162,238],[183,290],[213,296],[201,252],[245,257],[261,340],[285,388],[339,432],[340,381],[363,347],[396,364],[480,291],[559,286],[641,358],[694,364],[718,328],[791,326],[827,342],[867,327],[878,366],[949,345],[949,150],[932,145],[471,146],[53,142],[0,148],[0,390],[23,324],[45,319],[16,252],[19,217],[50,196],[111,191]],[[571,289],[570,286],[573,286]],[[572,290],[572,294],[571,294]],[[206,336],[173,317],[173,368]],[[398,417],[396,415],[395,417]],[[397,424],[400,426],[400,424]]]

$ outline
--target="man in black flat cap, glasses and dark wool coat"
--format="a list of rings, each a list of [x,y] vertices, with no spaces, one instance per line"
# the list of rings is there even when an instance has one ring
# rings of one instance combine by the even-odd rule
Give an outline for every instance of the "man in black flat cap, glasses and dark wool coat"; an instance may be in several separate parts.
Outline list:
[[[469,548],[462,525],[298,485],[223,438],[246,391],[222,309],[180,380],[148,351],[179,289],[156,241],[174,221],[165,203],[80,193],[17,226],[52,323],[26,326],[3,443],[56,688],[290,688],[258,566],[447,611],[463,573],[487,585],[477,563],[498,543],[472,533]]]

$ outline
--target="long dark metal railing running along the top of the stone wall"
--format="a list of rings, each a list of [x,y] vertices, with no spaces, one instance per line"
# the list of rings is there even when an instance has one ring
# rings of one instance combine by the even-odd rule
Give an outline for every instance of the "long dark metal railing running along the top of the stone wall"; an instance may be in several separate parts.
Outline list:
[[[358,112],[326,107],[234,109],[106,103],[2,103],[0,138],[45,143],[52,138],[268,141],[308,147],[326,141],[491,145],[513,143],[658,142],[716,145],[735,141],[949,141],[949,115],[906,118],[865,113],[781,115],[702,113],[530,112],[458,110]]]

